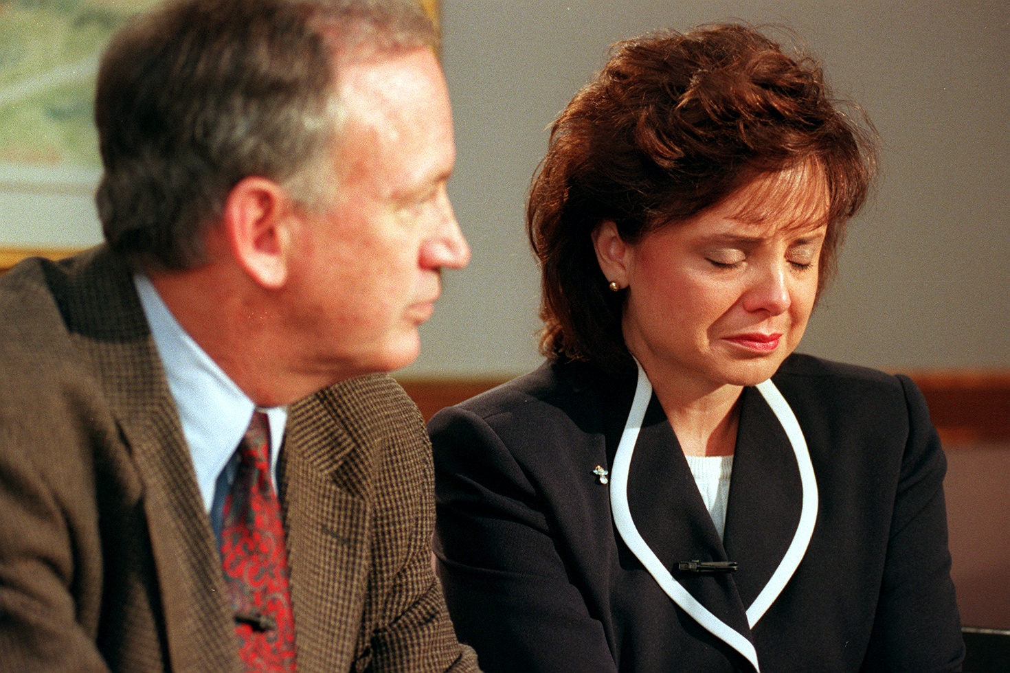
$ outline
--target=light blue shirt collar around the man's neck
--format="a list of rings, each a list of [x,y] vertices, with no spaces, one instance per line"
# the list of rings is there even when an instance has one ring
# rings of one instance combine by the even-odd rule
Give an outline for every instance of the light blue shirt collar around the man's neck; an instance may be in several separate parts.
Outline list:
[[[209,512],[217,476],[238,447],[257,407],[186,333],[146,275],[134,274],[133,285],[162,358],[200,494]],[[270,419],[271,473],[276,484],[278,448],[284,441],[288,410],[274,407],[260,411]]]

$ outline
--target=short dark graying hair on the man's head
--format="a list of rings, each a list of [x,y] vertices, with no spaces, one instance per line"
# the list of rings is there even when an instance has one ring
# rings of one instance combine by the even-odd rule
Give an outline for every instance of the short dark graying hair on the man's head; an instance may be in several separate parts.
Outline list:
[[[175,0],[102,58],[95,195],[109,246],[140,268],[206,261],[207,228],[249,176],[309,209],[329,202],[338,141],[333,52],[437,47],[411,0]]]

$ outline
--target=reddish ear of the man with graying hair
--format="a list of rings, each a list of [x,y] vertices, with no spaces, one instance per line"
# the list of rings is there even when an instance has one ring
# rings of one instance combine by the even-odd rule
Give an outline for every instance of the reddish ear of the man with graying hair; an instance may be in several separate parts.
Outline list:
[[[288,279],[296,215],[287,192],[272,180],[238,182],[221,217],[232,256],[258,285],[279,290]]]

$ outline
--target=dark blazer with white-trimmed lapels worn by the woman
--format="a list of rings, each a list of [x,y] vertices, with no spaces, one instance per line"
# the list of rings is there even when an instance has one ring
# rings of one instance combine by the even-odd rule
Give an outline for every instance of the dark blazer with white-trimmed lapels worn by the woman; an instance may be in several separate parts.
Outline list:
[[[436,415],[439,575],[482,668],[960,670],[945,459],[921,394],[805,355],[772,381],[786,412],[743,390],[723,541],[654,396],[614,500],[634,372],[548,362]],[[692,560],[738,569],[677,569]]]

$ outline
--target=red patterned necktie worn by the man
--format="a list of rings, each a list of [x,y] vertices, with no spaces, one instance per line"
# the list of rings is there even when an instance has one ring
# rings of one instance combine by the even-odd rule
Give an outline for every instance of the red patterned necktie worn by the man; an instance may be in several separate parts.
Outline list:
[[[295,670],[295,623],[288,589],[281,503],[270,483],[270,423],[252,415],[224,500],[221,561],[246,671]]]

